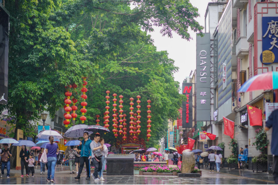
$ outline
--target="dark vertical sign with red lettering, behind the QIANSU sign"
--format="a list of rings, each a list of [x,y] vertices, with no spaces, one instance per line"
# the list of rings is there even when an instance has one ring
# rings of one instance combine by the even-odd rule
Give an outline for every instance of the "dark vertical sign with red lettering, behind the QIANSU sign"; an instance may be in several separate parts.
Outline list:
[[[183,101],[183,128],[192,128],[193,122],[193,83],[183,83],[183,94],[186,95],[186,101]]]

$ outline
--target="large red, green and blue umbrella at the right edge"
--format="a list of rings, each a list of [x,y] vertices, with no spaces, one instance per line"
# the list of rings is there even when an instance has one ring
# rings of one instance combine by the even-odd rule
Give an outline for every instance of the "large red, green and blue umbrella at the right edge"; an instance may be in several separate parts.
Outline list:
[[[271,71],[255,75],[246,81],[238,92],[248,92],[253,90],[277,89],[278,72]]]

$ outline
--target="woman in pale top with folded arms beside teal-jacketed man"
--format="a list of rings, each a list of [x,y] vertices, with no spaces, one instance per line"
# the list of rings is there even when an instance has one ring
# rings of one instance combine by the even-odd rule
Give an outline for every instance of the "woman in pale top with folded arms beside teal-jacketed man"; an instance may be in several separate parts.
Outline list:
[[[99,181],[98,172],[102,170],[102,150],[104,146],[100,144],[100,135],[98,133],[95,134],[94,140],[91,142],[91,150],[92,150],[92,160],[94,164],[95,171],[92,173],[92,177],[95,181]]]

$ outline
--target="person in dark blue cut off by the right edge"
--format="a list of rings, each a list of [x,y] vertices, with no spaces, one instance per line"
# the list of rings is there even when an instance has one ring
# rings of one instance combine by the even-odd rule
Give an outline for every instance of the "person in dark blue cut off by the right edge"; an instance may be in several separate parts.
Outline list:
[[[278,123],[278,109],[274,110],[270,114],[268,120],[266,121],[266,125],[264,127],[265,131],[268,131],[270,128],[272,128],[271,153],[273,154],[273,179],[275,181],[275,184],[278,184],[278,134],[276,134],[278,132],[277,123]]]

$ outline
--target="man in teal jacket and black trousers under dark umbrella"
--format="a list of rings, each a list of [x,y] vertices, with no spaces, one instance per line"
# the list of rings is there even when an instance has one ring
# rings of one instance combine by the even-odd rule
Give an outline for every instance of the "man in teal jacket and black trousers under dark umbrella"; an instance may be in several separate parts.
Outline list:
[[[79,149],[81,149],[81,156],[80,156],[80,167],[78,170],[78,175],[74,177],[75,179],[80,179],[80,175],[82,173],[84,164],[86,163],[86,171],[87,171],[87,177],[86,180],[90,179],[90,161],[89,157],[92,155],[92,150],[90,147],[90,144],[92,142],[91,139],[89,139],[89,133],[84,132],[83,134],[83,140],[79,144]]]

